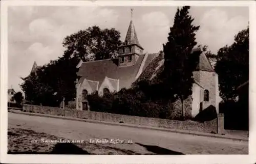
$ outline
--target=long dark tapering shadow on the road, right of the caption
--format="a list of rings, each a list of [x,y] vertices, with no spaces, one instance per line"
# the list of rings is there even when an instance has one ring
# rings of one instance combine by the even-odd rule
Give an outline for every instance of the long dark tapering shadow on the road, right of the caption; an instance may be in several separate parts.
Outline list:
[[[147,151],[151,151],[155,154],[171,154],[171,155],[184,155],[183,153],[181,152],[177,152],[177,151],[173,151],[173,150],[169,150],[169,149],[165,149],[165,148],[161,148],[159,146],[153,146],[153,145],[143,145],[143,144],[140,144],[140,143],[136,143],[140,146],[143,146],[144,148],[147,149]]]

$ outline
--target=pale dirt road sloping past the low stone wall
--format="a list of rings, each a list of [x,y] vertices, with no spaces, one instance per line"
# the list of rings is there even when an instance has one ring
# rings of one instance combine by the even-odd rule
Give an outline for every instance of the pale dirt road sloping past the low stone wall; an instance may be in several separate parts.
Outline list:
[[[248,142],[14,113],[8,113],[8,127],[30,129],[60,138],[87,142],[96,139],[123,140],[123,143],[116,144],[101,141],[111,147],[142,154],[248,154]]]

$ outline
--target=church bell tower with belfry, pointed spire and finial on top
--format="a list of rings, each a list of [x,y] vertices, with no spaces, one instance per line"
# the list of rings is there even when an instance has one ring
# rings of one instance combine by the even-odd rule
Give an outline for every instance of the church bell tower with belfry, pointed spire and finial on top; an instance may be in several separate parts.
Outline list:
[[[133,9],[131,9],[131,21],[129,28],[124,42],[119,46],[119,66],[134,65],[140,54],[143,54],[143,49],[144,48],[140,45],[135,31],[133,24]]]

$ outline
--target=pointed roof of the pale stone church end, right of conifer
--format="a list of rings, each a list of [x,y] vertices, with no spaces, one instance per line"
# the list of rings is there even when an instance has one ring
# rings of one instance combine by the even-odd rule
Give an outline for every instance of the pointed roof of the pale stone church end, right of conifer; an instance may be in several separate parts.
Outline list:
[[[200,48],[194,48],[191,53],[194,51],[201,50]],[[208,71],[208,72],[215,72],[214,68],[212,68],[208,58],[206,57],[205,53],[202,52],[199,56],[199,63],[196,68],[196,71]]]

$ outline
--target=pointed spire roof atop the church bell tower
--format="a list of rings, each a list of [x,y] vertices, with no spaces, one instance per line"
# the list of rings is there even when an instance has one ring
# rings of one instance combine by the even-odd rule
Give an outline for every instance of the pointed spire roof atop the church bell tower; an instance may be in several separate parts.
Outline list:
[[[139,43],[136,31],[135,31],[133,20],[130,21],[130,25],[129,25],[129,28],[128,28],[128,31],[127,31],[124,42],[126,42],[126,41],[129,42],[128,44],[137,44],[139,47],[142,48],[142,46]]]

